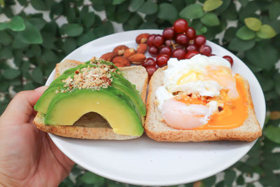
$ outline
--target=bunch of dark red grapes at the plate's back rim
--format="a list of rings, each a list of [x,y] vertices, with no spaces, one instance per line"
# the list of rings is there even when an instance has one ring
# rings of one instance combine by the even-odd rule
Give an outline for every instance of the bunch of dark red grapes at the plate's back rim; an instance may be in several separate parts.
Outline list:
[[[179,19],[174,22],[173,27],[168,27],[161,34],[150,34],[146,40],[148,53],[155,57],[147,58],[142,62],[146,67],[149,78],[158,67],[167,65],[170,57],[178,60],[190,59],[191,57],[202,54],[206,56],[212,54],[210,46],[206,45],[206,38],[203,35],[197,35],[193,27],[188,27],[188,22]],[[224,56],[226,60],[233,63],[232,57]]]

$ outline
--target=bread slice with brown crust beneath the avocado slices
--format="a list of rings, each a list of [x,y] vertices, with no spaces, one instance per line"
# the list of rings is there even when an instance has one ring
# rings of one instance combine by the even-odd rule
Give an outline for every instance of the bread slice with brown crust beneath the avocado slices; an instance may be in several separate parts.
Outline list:
[[[67,64],[71,64],[70,66],[67,66]],[[55,67],[55,78],[63,73],[66,69],[72,68],[73,64],[83,64],[83,62],[78,62],[76,60],[64,60],[57,64]],[[62,67],[63,66],[63,69]],[[141,66],[134,66],[134,67],[123,67],[120,68],[121,72],[128,72],[127,76],[125,75],[125,78],[127,78],[129,81],[131,78],[132,73],[135,74],[135,76],[141,76],[141,79],[139,82],[135,82],[134,78],[134,84],[137,84],[138,91],[140,92],[141,98],[146,102],[146,90],[148,85],[148,73],[146,72],[146,69]],[[144,119],[142,119],[144,121]],[[83,122],[82,122],[83,123]],[[87,123],[87,122],[84,122]],[[71,137],[71,138],[78,138],[78,139],[115,139],[115,140],[125,140],[125,139],[135,139],[138,137],[135,136],[128,136],[128,135],[120,135],[115,134],[113,132],[113,129],[109,127],[108,123],[106,121],[102,122],[103,124],[106,123],[106,125],[102,125],[102,127],[98,127],[98,125],[95,125],[95,127],[89,127],[90,125],[87,125],[83,127],[82,125],[76,126],[63,126],[63,125],[45,125],[44,124],[44,116],[42,113],[38,112],[34,118],[34,125],[39,130],[42,130],[44,132],[49,132],[52,134],[56,134],[62,137]],[[94,125],[93,125],[94,126]],[[105,127],[104,127],[105,126]]]

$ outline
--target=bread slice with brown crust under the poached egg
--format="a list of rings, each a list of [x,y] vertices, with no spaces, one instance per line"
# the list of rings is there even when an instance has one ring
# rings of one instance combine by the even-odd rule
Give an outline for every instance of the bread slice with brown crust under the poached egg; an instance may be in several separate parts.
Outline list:
[[[248,118],[244,124],[230,130],[178,130],[165,123],[156,104],[155,91],[163,85],[164,70],[158,69],[149,82],[147,98],[147,115],[144,129],[148,137],[157,141],[216,141],[216,140],[240,140],[253,141],[261,136],[262,129],[255,117],[253,102],[249,90],[248,81],[244,80],[248,92]],[[238,118],[238,116],[237,116]],[[226,123],[226,122],[225,122]]]

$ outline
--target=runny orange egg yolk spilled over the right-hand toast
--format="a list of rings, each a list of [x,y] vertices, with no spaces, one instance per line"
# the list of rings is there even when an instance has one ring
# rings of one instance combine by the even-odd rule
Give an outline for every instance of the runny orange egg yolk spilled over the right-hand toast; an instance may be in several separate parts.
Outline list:
[[[209,122],[206,125],[196,127],[197,130],[221,130],[232,129],[239,127],[248,117],[248,106],[251,102],[248,101],[248,93],[246,91],[244,81],[241,77],[235,76],[239,97],[236,99],[228,99],[225,92],[221,93],[221,99],[224,103],[221,111],[213,113]],[[213,99],[215,100],[215,99]]]

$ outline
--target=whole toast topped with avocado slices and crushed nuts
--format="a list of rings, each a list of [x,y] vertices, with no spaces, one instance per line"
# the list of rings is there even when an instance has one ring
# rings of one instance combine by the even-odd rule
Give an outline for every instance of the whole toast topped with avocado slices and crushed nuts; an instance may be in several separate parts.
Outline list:
[[[80,139],[141,136],[148,81],[143,67],[118,69],[94,58],[85,63],[64,60],[56,76],[34,106],[38,129]]]

